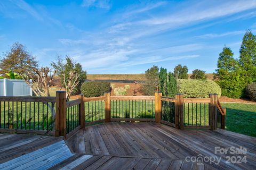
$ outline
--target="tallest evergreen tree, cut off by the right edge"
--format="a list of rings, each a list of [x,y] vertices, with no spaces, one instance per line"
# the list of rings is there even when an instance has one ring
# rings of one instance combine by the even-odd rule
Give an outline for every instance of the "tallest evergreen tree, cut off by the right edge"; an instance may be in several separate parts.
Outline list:
[[[256,36],[246,31],[239,50],[239,64],[248,83],[256,82]]]

